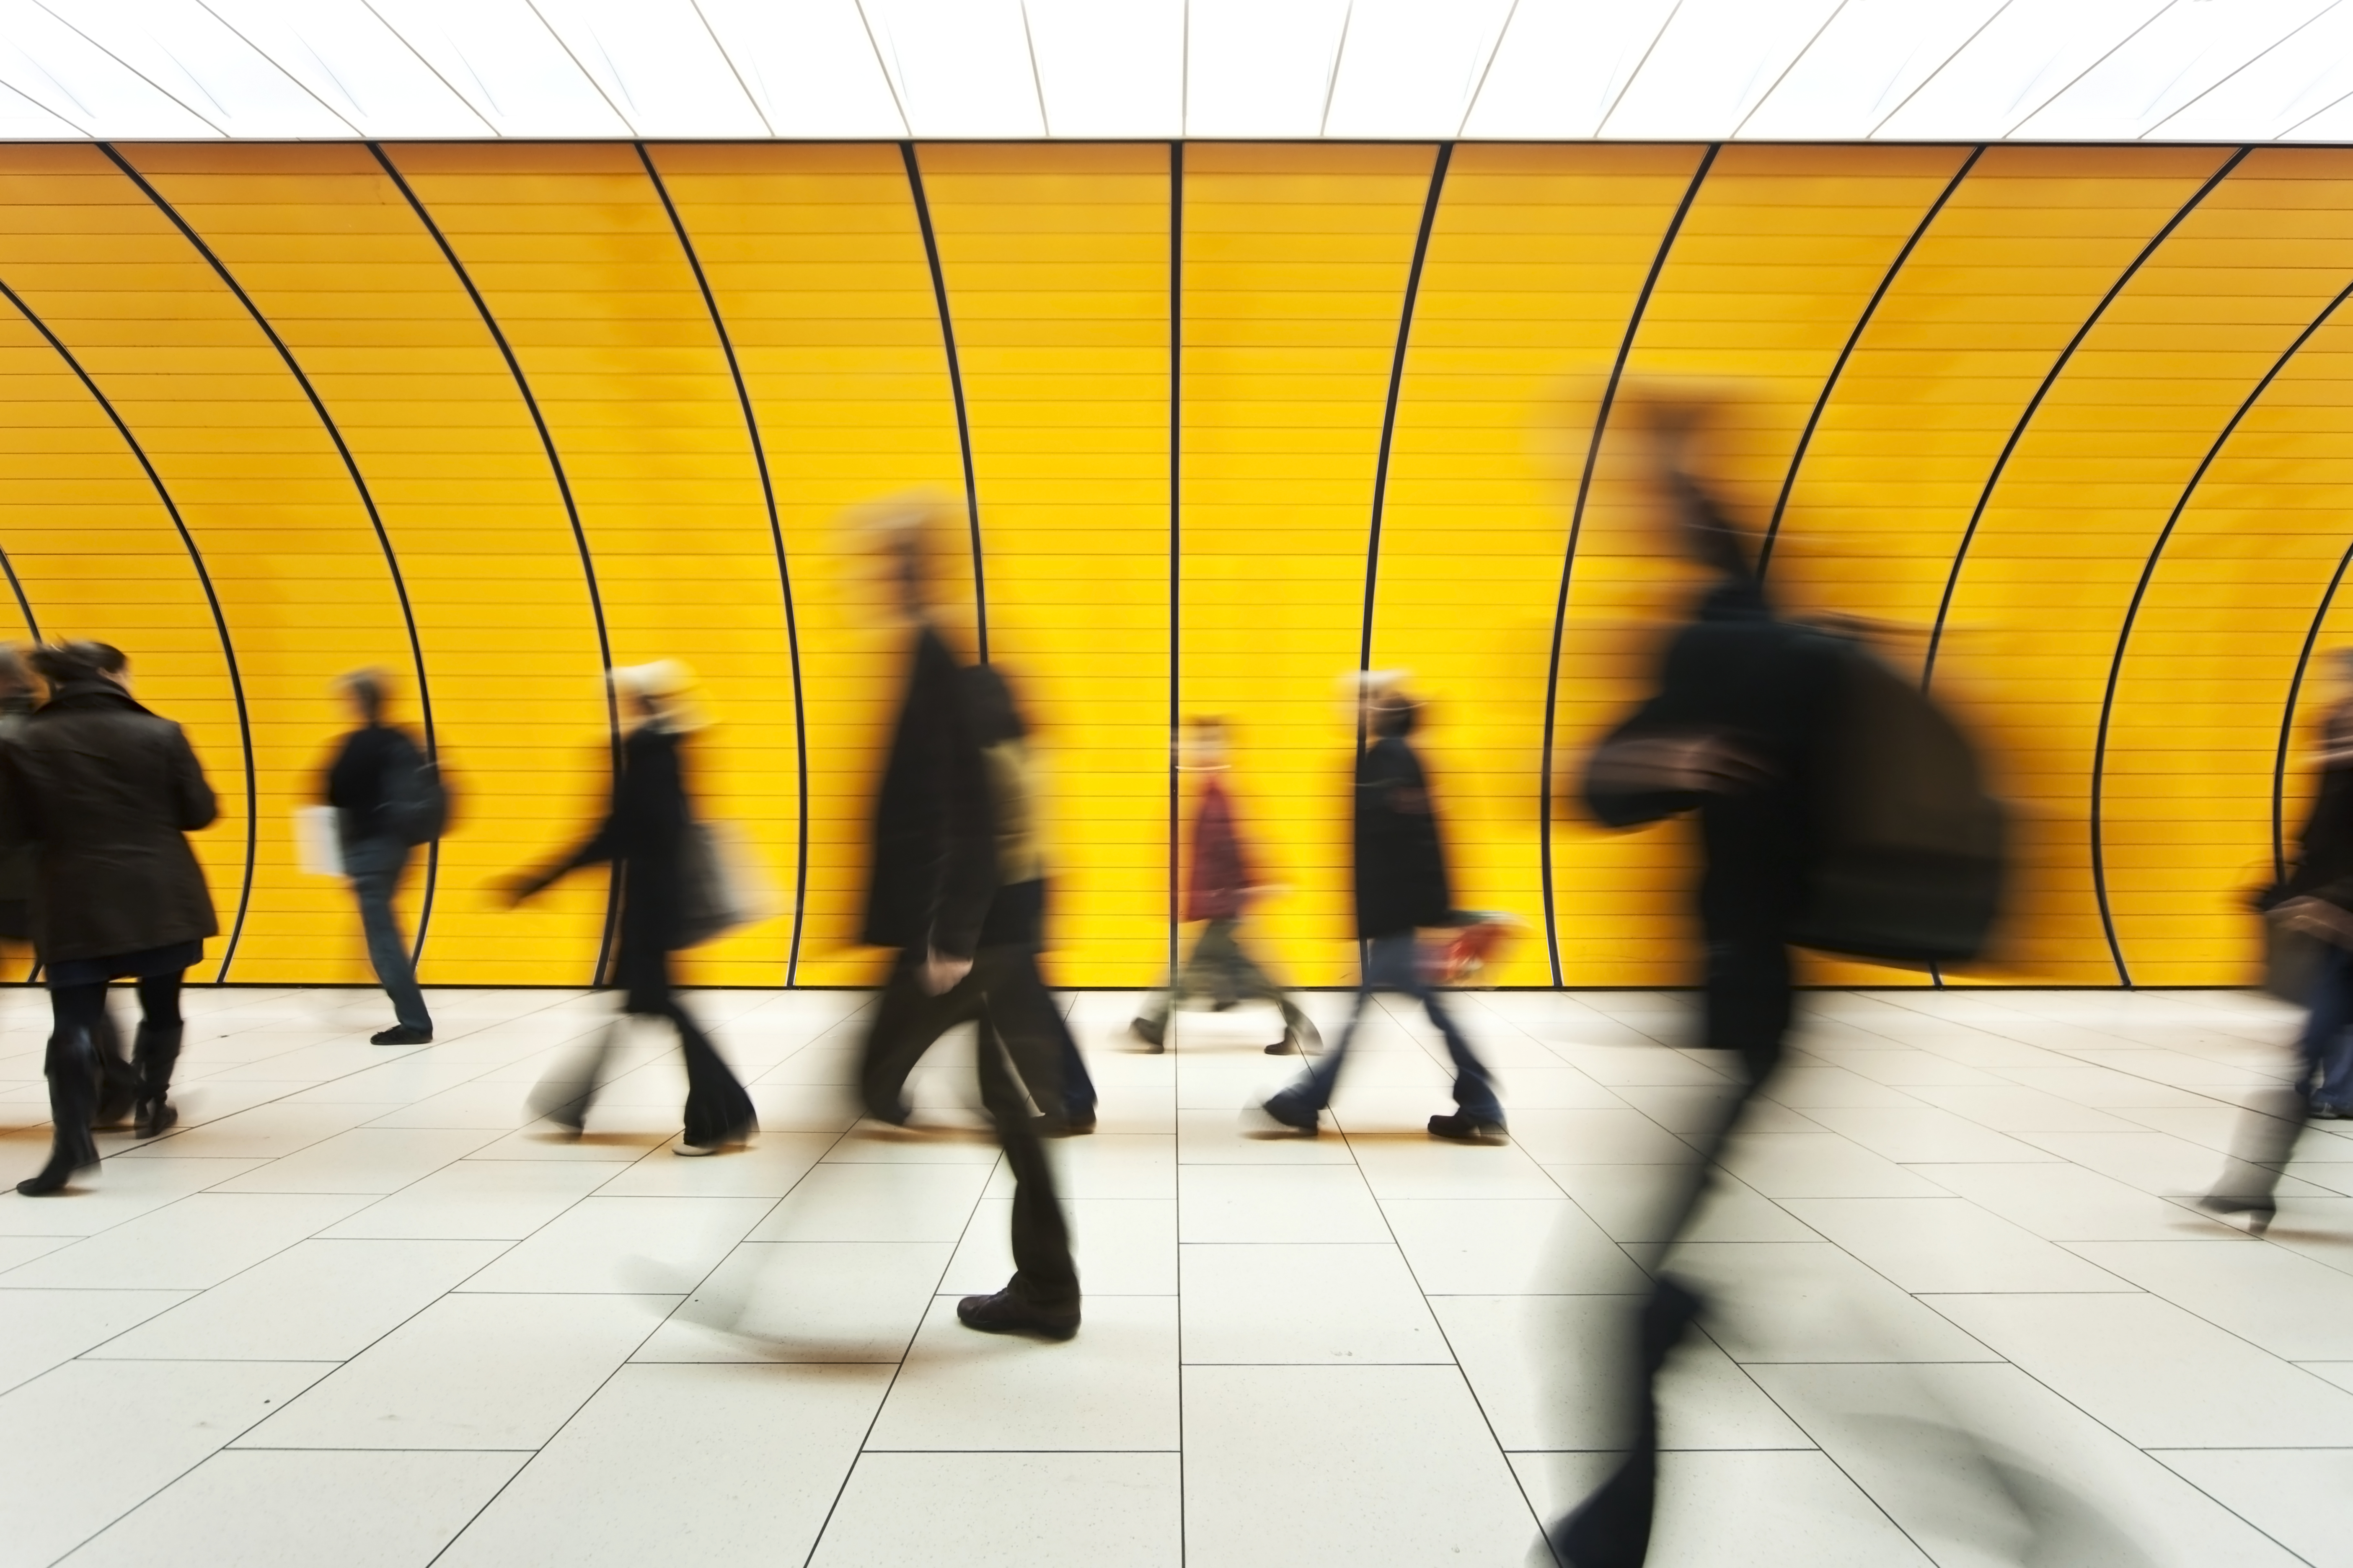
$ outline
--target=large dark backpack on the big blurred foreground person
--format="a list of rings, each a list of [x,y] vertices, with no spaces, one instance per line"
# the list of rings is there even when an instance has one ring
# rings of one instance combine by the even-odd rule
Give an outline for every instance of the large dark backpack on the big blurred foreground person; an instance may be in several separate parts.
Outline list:
[[[1840,642],[1800,947],[1882,964],[1981,957],[2002,905],[2007,820],[1953,717]]]

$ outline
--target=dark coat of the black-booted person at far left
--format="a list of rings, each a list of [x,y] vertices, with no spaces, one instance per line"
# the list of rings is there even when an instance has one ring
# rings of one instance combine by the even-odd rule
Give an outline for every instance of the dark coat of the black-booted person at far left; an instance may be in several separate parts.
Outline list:
[[[66,682],[0,748],[0,839],[40,842],[42,957],[106,959],[221,931],[184,835],[219,816],[188,736],[106,679]]]

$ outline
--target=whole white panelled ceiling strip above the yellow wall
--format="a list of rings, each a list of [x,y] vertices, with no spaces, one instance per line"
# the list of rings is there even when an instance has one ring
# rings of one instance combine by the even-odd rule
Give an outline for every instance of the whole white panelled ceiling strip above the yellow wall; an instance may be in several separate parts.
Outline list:
[[[0,0],[0,139],[2353,141],[2353,0]]]

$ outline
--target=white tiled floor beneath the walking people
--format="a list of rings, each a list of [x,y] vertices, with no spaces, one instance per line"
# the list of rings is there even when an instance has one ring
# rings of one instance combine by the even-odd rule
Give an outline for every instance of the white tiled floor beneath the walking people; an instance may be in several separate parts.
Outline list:
[[[1311,997],[1327,1030],[1344,997]],[[0,1568],[1534,1561],[1612,1465],[1609,1378],[1685,1135],[1727,1093],[1659,994],[1466,994],[1513,1143],[1431,1143],[1435,1039],[1358,1041],[1315,1143],[1240,1112],[1273,1018],[1075,994],[1068,1345],[974,1335],[1012,1187],[969,1044],[856,1124],[866,999],[706,992],[769,1128],[673,1159],[659,1032],[588,1135],[522,1110],[576,992],[191,992],[181,1126],[0,1194]],[[0,992],[0,1173],[45,999]],[[2294,1016],[2221,992],[1828,992],[1673,1267],[1661,1568],[2353,1566],[2353,1124],[2271,1239],[2172,1201]],[[2028,1526],[2035,1521],[2035,1526]]]

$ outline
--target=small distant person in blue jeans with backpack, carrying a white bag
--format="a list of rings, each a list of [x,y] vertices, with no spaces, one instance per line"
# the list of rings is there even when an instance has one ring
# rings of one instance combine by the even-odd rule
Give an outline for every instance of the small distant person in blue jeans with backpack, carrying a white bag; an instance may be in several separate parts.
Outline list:
[[[381,670],[358,670],[339,686],[360,726],[336,748],[325,795],[334,806],[344,875],[360,903],[367,961],[393,1001],[393,1027],[369,1034],[369,1044],[424,1046],[433,1039],[433,1013],[416,987],[393,896],[409,870],[409,851],[440,832],[440,780],[416,741],[384,722]]]

